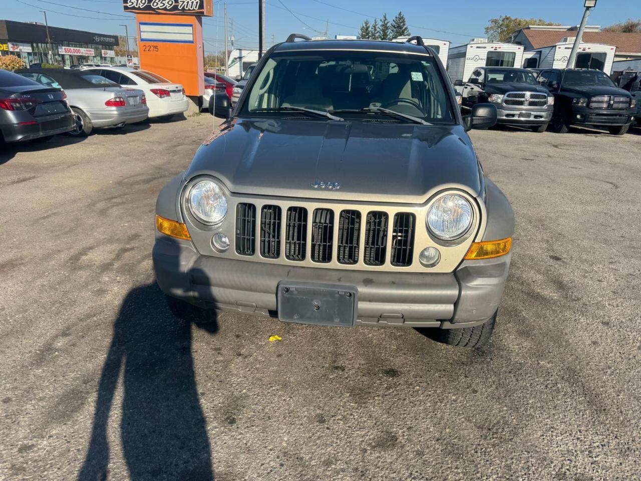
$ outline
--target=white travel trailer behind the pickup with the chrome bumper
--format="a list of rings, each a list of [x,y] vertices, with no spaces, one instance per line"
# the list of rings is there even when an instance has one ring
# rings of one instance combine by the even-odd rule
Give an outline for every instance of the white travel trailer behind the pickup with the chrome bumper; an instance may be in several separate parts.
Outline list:
[[[447,73],[452,81],[466,81],[478,67],[520,67],[523,47],[472,38],[469,44],[449,49]]]

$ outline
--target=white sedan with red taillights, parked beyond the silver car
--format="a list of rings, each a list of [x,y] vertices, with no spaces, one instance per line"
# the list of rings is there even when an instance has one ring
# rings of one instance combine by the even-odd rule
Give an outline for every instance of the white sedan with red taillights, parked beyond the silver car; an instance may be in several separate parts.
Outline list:
[[[169,119],[174,114],[187,112],[188,99],[183,86],[158,74],[128,67],[100,67],[89,71],[96,72],[122,87],[144,90],[150,118]]]

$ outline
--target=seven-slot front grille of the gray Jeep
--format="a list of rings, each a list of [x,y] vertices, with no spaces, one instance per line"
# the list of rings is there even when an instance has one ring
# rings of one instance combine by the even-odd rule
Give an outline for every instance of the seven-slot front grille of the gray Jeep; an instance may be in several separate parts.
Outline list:
[[[259,218],[256,212],[260,212]],[[311,215],[310,222],[308,215]],[[387,212],[378,210],[361,212],[315,208],[308,213],[304,207],[285,209],[278,205],[263,205],[257,210],[251,203],[239,203],[236,208],[235,251],[244,256],[256,255],[258,241],[263,258],[281,258],[282,250],[287,260],[303,261],[309,255],[313,262],[321,264],[335,258],[338,264],[362,262],[367,266],[383,266],[389,248],[389,264],[394,267],[411,266],[416,216],[411,212],[398,212],[391,227],[389,217]],[[365,235],[362,239],[363,219]],[[309,254],[308,242],[311,242]]]

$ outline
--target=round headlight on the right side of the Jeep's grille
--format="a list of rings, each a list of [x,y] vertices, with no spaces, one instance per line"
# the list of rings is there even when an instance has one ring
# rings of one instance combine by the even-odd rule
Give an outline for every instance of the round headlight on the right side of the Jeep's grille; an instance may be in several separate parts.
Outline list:
[[[429,232],[442,241],[454,241],[472,225],[474,211],[463,196],[445,194],[429,208],[426,223]]]

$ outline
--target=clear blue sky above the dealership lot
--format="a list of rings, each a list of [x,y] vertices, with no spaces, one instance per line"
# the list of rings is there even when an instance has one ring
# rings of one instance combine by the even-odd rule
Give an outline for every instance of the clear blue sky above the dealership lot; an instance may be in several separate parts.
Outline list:
[[[217,1],[214,0],[215,16],[206,17],[203,22],[208,53],[222,49],[224,42],[222,1]],[[51,26],[124,35],[124,27],[120,24],[128,24],[130,35],[135,35],[134,15],[122,11],[122,0],[2,0],[1,3],[0,19],[42,22],[43,14],[39,10],[47,10]],[[598,0],[588,24],[607,26],[630,17],[641,17],[639,3],[640,0]],[[227,4],[228,15],[233,19],[236,46],[255,48],[258,44],[258,2],[229,0]],[[410,24],[412,35],[442,38],[458,45],[466,43],[470,37],[483,37],[488,19],[499,15],[542,17],[563,25],[576,25],[583,15],[583,0],[267,0],[265,10],[267,46],[271,45],[272,38],[278,42],[293,31],[310,37],[319,35],[318,32],[326,30],[327,21],[330,37],[356,35],[365,15],[372,21],[373,17],[387,13],[391,20],[399,10]]]

